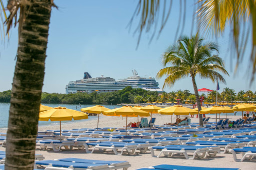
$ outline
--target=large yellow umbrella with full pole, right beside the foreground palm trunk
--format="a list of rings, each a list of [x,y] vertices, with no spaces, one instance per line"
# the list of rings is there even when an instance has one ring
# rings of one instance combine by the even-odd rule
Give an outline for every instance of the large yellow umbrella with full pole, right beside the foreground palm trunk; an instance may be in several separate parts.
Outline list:
[[[55,107],[53,109],[39,113],[39,121],[59,121],[59,132],[61,141],[61,121],[88,119],[88,115],[65,107]]]

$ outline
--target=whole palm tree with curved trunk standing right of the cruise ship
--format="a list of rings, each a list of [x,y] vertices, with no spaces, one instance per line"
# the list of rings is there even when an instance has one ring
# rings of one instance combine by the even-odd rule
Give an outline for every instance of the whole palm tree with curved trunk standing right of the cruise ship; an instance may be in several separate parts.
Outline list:
[[[167,48],[162,56],[162,64],[165,67],[158,71],[157,78],[167,75],[164,80],[163,88],[172,86],[177,80],[190,76],[196,97],[198,111],[201,110],[195,76],[198,75],[202,79],[210,79],[213,83],[219,80],[225,83],[224,78],[217,71],[227,74],[224,69],[223,60],[217,55],[211,55],[212,51],[217,50],[214,42],[206,42],[198,35],[181,36],[177,43]],[[202,126],[202,115],[199,114],[199,125]]]

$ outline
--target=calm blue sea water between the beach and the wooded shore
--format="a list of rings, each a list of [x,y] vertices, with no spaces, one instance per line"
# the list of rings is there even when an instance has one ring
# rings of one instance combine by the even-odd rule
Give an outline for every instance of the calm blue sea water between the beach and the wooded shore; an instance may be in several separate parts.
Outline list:
[[[81,105],[81,107],[77,106],[77,105],[73,105],[73,104],[43,104],[45,106],[50,106],[50,107],[57,107],[57,106],[61,106],[61,107],[66,107],[67,109],[73,109],[73,110],[77,110],[80,111],[81,108],[85,108],[85,107],[90,107],[90,106],[95,106],[95,105]],[[77,106],[77,109],[75,109],[75,106]],[[109,109],[114,109],[115,107],[120,107],[118,105],[102,105],[104,107],[107,107]],[[9,116],[9,107],[10,104],[9,103],[0,103],[0,128],[7,128],[8,125],[8,116]],[[75,122],[81,122],[81,121],[88,121],[88,120],[94,120],[97,119],[97,116],[88,116],[88,119],[85,120],[76,120]],[[64,124],[66,123],[72,123],[72,121],[61,121]],[[51,121],[39,121],[39,125],[54,125],[54,124],[59,124],[58,121],[56,122],[51,122]]]

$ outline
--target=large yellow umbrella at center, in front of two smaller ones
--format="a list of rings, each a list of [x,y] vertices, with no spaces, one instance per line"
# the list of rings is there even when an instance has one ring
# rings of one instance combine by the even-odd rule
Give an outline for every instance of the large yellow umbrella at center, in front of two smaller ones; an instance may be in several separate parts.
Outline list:
[[[115,108],[112,110],[108,110],[104,112],[104,115],[106,116],[116,116],[116,115],[121,115],[121,116],[126,116],[126,126],[125,126],[125,136],[126,136],[126,131],[127,131],[127,117],[128,116],[150,116],[149,113],[133,108],[131,106],[123,106],[120,108]]]

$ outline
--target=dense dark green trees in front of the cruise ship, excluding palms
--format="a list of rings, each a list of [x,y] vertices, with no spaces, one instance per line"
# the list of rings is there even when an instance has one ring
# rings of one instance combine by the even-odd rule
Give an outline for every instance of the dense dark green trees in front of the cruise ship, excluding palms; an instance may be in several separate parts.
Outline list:
[[[10,102],[11,90],[0,92],[0,102]],[[97,93],[75,93],[75,94],[60,94],[46,93],[41,94],[41,103],[61,103],[61,104],[120,104],[134,103],[138,100],[137,96],[142,99],[154,101],[158,97],[157,92],[150,92],[143,89],[132,89],[126,87],[116,92]],[[142,100],[141,100],[142,101]]]

